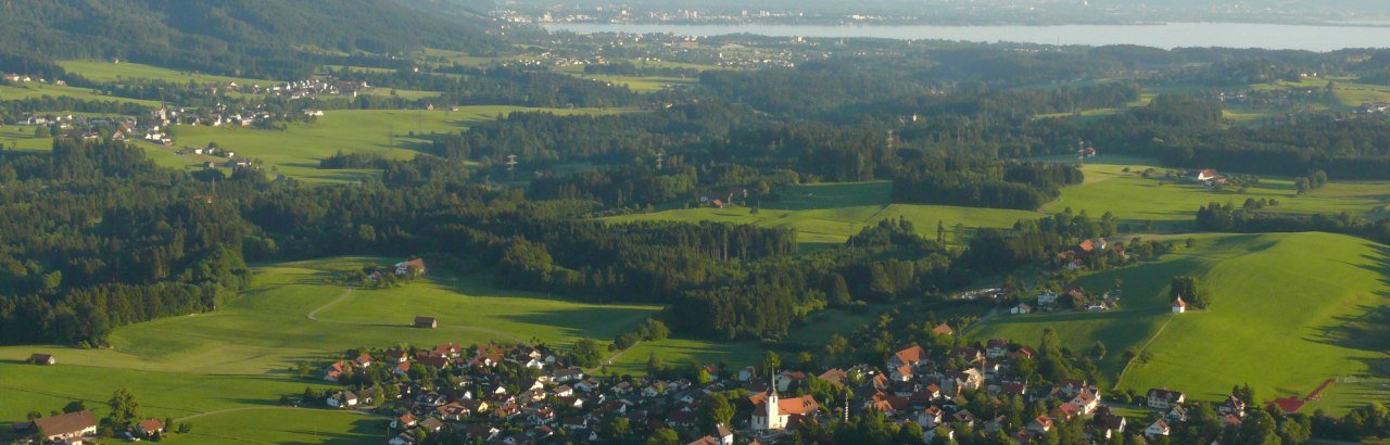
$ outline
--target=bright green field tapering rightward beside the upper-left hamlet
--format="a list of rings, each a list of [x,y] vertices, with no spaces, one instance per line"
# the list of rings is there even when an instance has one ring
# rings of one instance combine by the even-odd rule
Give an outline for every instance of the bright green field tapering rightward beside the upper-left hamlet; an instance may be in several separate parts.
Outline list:
[[[552,111],[557,114],[619,113],[620,110],[550,110],[507,106],[463,107],[459,111],[436,110],[332,110],[314,124],[292,125],[285,131],[178,127],[175,145],[207,146],[217,142],[238,157],[264,161],[274,172],[310,182],[354,182],[375,175],[367,170],[318,170],[318,160],[342,150],[378,153],[389,159],[410,159],[428,146],[430,132],[457,132],[474,122],[513,111]],[[414,134],[411,136],[411,134]],[[192,164],[193,160],[189,160]]]

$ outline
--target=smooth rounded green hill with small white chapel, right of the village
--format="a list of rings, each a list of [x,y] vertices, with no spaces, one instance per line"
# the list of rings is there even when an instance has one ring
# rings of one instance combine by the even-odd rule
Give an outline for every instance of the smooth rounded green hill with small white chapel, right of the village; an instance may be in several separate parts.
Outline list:
[[[1198,246],[1161,261],[1083,277],[1099,291],[1123,281],[1123,309],[1109,313],[999,316],[970,331],[976,339],[1036,343],[1044,328],[1073,349],[1099,341],[1111,384],[1152,387],[1215,400],[1250,384],[1262,399],[1307,395],[1323,380],[1390,375],[1386,356],[1341,327],[1390,298],[1390,249],[1330,234],[1201,235]],[[1201,280],[1211,310],[1172,314],[1168,280]],[[1122,352],[1152,355],[1126,370]],[[1279,370],[1270,373],[1269,370]],[[1383,382],[1383,380],[1382,380]],[[1344,412],[1390,395],[1384,387],[1333,385],[1312,409]]]

